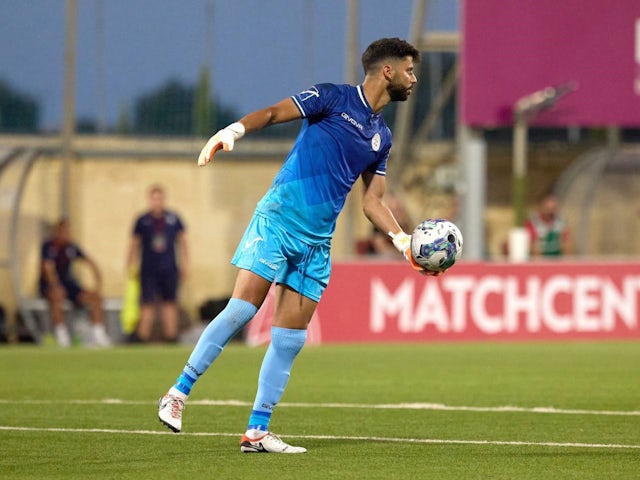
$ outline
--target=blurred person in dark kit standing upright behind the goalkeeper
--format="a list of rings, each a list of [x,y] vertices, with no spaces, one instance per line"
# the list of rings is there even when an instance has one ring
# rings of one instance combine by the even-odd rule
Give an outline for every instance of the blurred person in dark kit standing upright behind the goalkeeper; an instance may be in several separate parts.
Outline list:
[[[187,242],[182,220],[165,208],[165,192],[160,185],[151,187],[149,211],[135,222],[127,266],[130,270],[139,268],[140,271],[138,338],[143,342],[150,340],[156,302],[160,301],[163,337],[166,341],[175,341],[178,336],[178,283],[188,268]]]

